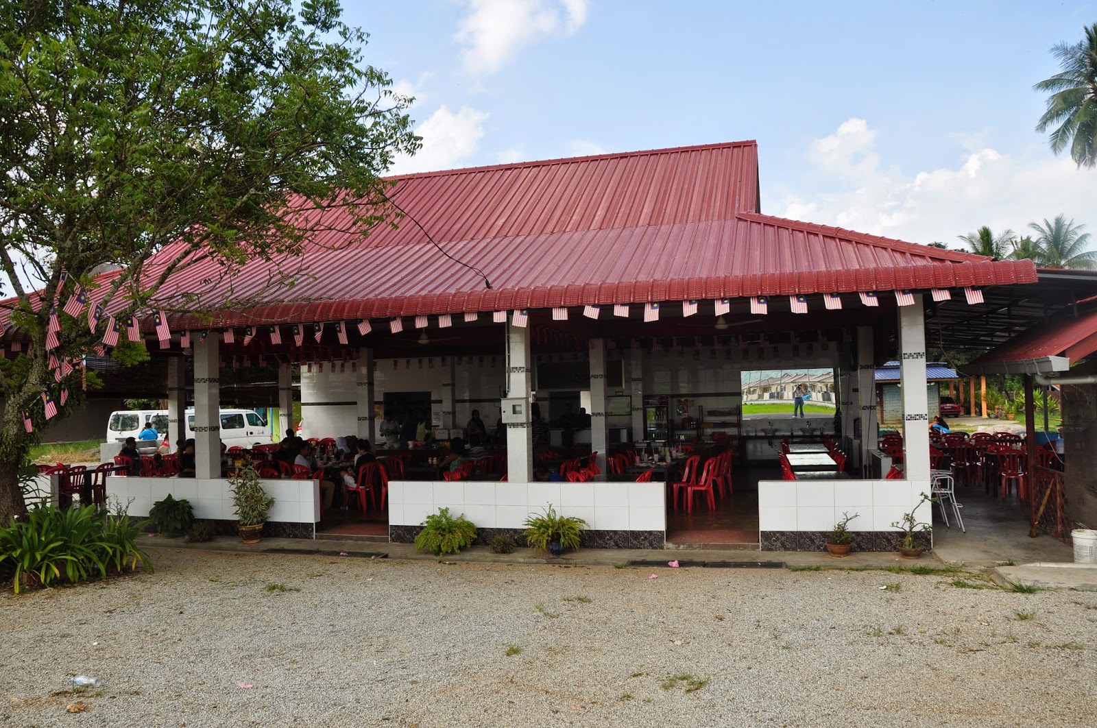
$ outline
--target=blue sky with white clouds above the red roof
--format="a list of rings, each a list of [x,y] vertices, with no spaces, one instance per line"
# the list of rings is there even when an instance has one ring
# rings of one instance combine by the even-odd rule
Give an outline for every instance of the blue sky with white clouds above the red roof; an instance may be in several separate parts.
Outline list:
[[[392,172],[742,139],[761,211],[960,248],[1061,213],[1097,240],[1097,170],[1055,157],[1032,84],[1097,0],[344,0],[416,98]]]

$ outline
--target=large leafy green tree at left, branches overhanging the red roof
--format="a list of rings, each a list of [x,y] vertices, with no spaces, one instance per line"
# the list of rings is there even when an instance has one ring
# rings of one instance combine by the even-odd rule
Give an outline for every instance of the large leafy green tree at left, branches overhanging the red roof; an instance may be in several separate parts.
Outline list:
[[[56,384],[47,364],[54,304],[80,285],[115,316],[146,315],[189,265],[212,260],[225,280],[257,258],[278,269],[317,211],[349,207],[363,232],[385,218],[378,175],[419,140],[365,39],[338,0],[0,3],[0,272],[14,295],[0,318],[29,337],[0,361],[0,523],[25,509],[16,470],[43,393],[67,385],[58,417],[81,400],[79,374]],[[97,278],[104,264],[117,273]],[[59,321],[59,361],[102,338],[103,323]]]

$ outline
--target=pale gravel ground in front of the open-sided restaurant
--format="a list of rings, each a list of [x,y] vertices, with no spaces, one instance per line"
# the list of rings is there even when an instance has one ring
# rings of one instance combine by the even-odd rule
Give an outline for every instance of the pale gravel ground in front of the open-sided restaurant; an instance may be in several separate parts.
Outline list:
[[[886,571],[154,557],[155,573],[0,596],[0,725],[1095,724],[1093,593]],[[102,689],[66,692],[77,673]]]

